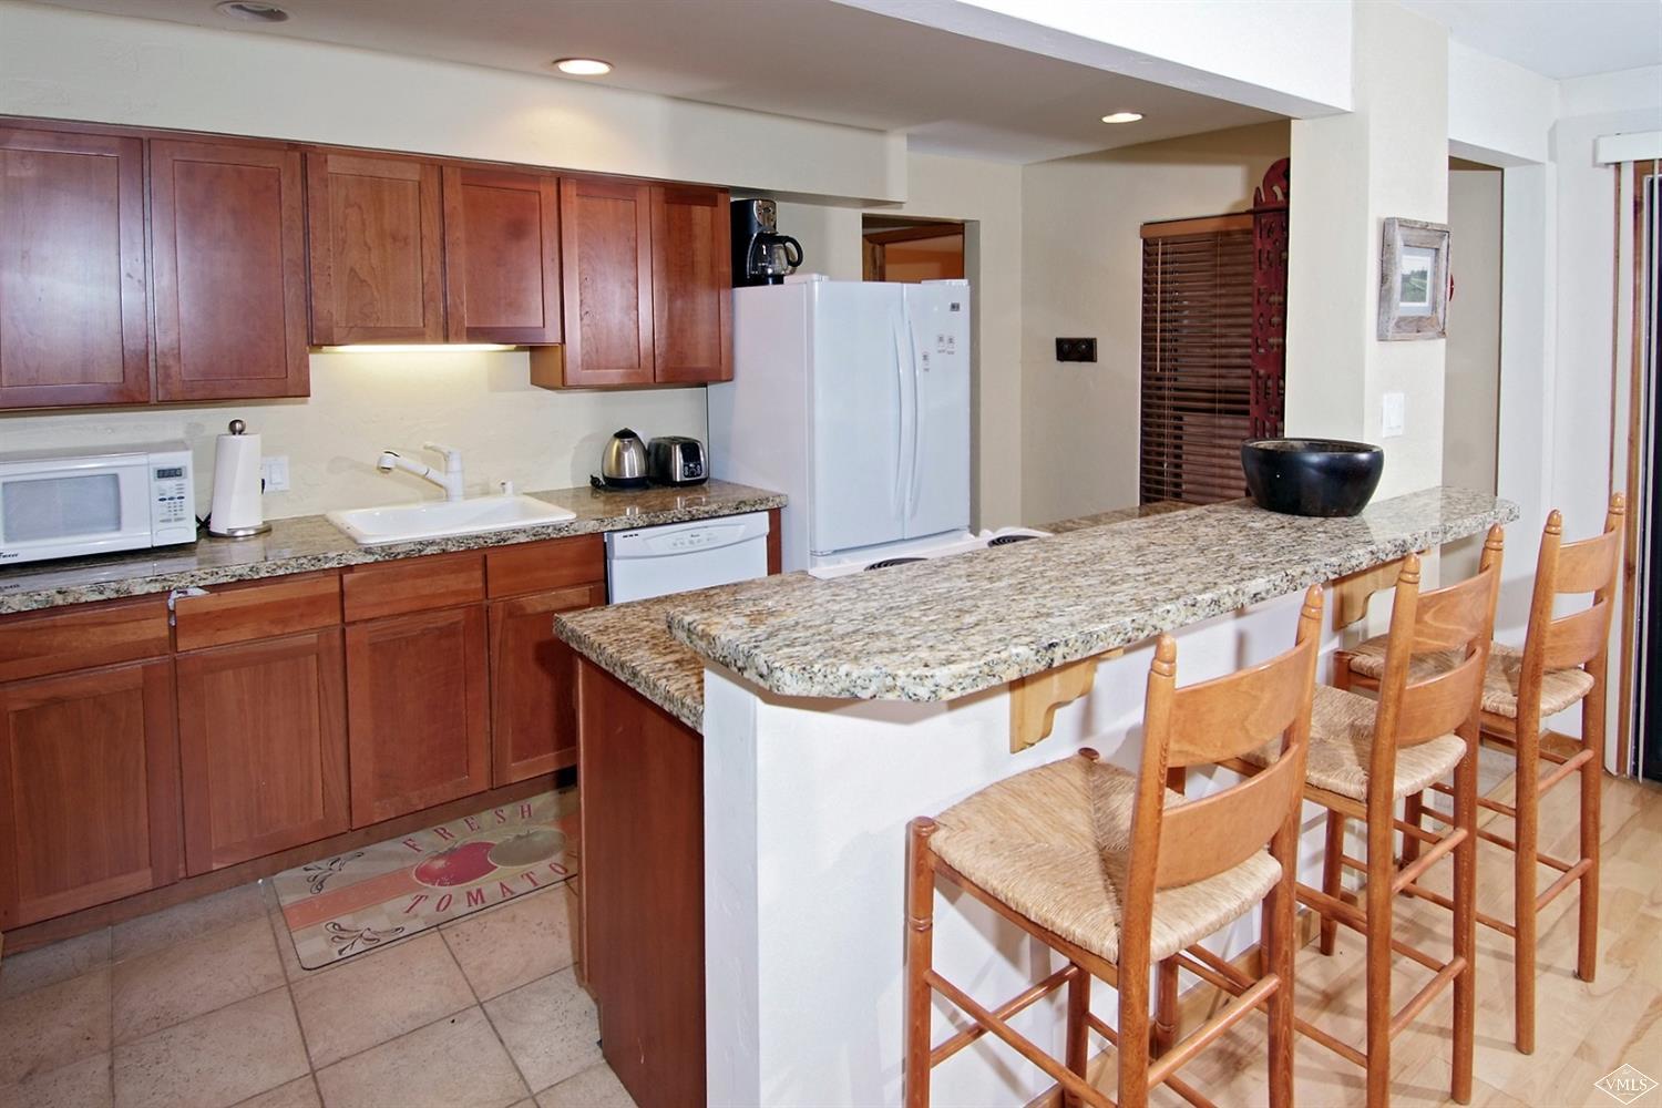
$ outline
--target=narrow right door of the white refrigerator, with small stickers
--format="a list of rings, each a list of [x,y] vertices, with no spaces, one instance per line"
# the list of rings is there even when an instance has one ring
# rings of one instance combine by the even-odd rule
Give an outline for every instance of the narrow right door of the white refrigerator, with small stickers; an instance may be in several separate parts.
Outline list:
[[[969,286],[902,287],[917,385],[906,538],[922,538],[969,527]]]

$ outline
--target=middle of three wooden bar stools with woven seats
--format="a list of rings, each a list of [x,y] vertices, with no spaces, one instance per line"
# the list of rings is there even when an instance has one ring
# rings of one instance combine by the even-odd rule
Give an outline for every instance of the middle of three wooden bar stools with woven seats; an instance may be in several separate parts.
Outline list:
[[[1449,1091],[1461,1103],[1471,1101],[1478,713],[1501,586],[1501,528],[1491,528],[1478,575],[1429,593],[1419,591],[1418,555],[1404,558],[1396,580],[1379,699],[1330,686],[1318,688],[1315,694],[1305,799],[1328,809],[1326,849],[1321,889],[1301,884],[1298,900],[1321,914],[1323,954],[1333,952],[1336,924],[1355,929],[1366,942],[1366,1048],[1358,1052],[1305,1020],[1296,1025],[1306,1037],[1366,1070],[1369,1108],[1389,1103],[1391,1040],[1451,983],[1454,1057]],[[1451,651],[1459,661],[1409,681],[1411,659],[1431,651]],[[1268,753],[1255,751],[1245,761],[1261,766]],[[1446,832],[1433,834],[1394,817],[1398,801],[1451,771],[1454,817]],[[1366,824],[1366,862],[1345,854],[1346,819]],[[1391,847],[1398,831],[1423,842],[1424,854],[1398,865]],[[1454,895],[1443,897],[1443,904],[1454,915],[1454,950],[1448,962],[1441,962],[1396,939],[1391,909],[1404,887],[1449,854],[1454,856]],[[1345,865],[1366,875],[1361,907],[1340,895]],[[1431,980],[1396,1010],[1391,1007],[1393,954],[1431,970]]]

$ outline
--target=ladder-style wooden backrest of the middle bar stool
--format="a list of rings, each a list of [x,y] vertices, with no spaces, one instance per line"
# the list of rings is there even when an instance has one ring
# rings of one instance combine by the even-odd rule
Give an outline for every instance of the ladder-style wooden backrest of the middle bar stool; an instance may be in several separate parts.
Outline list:
[[[1396,578],[1391,633],[1384,646],[1379,706],[1374,709],[1371,781],[1396,779],[1396,751],[1476,726],[1489,664],[1494,606],[1501,596],[1504,535],[1489,528],[1478,573],[1458,585],[1419,591],[1419,556],[1408,555]],[[1409,681],[1414,655],[1459,653],[1461,661]]]

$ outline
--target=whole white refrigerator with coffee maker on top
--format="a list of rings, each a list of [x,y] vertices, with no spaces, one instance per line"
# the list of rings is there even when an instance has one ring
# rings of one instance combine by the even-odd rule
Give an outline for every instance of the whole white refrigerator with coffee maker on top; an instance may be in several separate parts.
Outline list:
[[[783,561],[901,553],[969,528],[969,282],[819,276],[733,291],[711,473],[783,492]]]

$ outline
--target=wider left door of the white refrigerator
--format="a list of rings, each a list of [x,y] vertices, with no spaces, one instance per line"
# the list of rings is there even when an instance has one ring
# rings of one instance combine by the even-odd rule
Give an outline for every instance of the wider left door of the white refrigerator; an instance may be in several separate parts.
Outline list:
[[[902,286],[809,286],[813,427],[808,550],[829,553],[906,537],[902,437],[912,404]]]

